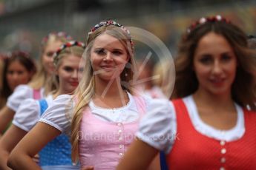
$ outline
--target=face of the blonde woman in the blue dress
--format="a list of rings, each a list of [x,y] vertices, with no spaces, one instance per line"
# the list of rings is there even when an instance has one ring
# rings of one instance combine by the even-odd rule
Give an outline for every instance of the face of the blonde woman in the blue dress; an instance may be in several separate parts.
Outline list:
[[[76,55],[67,55],[62,58],[56,75],[59,76],[59,88],[62,94],[72,93],[79,84],[79,61],[80,57]]]

